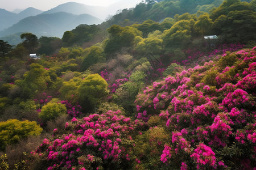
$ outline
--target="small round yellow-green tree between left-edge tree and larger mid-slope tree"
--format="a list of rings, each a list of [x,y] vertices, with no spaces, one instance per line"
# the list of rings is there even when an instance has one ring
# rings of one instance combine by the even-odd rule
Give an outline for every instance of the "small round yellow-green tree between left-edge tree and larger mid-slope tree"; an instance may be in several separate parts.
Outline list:
[[[42,107],[41,112],[39,113],[39,118],[43,122],[47,122],[66,113],[67,108],[65,104],[61,104],[58,99],[52,99]]]

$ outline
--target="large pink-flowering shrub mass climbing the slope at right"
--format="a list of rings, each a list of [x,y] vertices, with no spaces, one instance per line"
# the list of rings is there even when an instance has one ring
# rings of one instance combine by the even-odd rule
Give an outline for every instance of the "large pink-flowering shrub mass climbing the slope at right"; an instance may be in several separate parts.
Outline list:
[[[138,119],[158,115],[172,133],[160,160],[170,169],[255,167],[254,49],[223,54],[153,82],[137,96]]]

